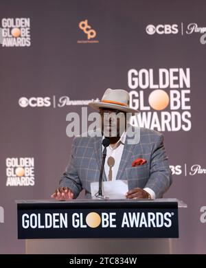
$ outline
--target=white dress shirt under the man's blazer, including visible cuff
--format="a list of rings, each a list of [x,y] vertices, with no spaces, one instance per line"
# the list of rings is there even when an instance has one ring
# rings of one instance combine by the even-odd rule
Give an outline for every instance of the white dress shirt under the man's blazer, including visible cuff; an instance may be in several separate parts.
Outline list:
[[[104,139],[104,137],[103,137]],[[109,180],[115,180],[117,177],[117,172],[119,170],[119,164],[120,160],[122,158],[122,153],[124,150],[124,143],[126,139],[126,132],[122,134],[118,142],[115,144],[114,147],[111,147],[109,145],[106,148],[106,159],[104,164],[104,171],[106,174],[106,179]],[[104,146],[102,145],[102,150],[104,149]],[[113,157],[113,158],[111,158]],[[108,166],[110,164],[110,166]],[[155,192],[150,188],[144,188],[146,192],[148,192],[152,199],[155,199]]]

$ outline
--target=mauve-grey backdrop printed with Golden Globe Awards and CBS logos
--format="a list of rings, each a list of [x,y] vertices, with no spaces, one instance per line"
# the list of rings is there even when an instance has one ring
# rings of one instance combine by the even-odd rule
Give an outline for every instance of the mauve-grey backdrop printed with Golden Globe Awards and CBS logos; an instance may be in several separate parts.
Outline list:
[[[69,161],[72,113],[81,132],[88,103],[112,88],[130,92],[135,124],[165,137],[165,198],[188,205],[174,253],[205,254],[205,1],[0,3],[0,253],[25,252],[15,201],[50,198]]]

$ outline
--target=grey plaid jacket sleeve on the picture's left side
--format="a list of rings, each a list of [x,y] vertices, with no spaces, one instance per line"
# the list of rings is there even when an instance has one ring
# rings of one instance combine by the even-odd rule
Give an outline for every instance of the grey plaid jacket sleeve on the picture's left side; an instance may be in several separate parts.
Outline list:
[[[75,199],[82,191],[82,183],[78,177],[78,170],[76,168],[76,138],[73,139],[69,164],[60,179],[59,186],[68,187],[73,192]]]

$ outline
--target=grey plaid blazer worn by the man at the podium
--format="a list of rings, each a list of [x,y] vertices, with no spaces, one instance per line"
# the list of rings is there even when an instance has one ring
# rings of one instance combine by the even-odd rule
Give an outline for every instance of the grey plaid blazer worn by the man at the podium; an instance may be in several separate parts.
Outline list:
[[[157,131],[140,128],[137,144],[124,144],[117,179],[128,180],[128,188],[151,188],[156,198],[163,197],[172,183],[168,157],[163,145],[163,135]],[[146,159],[146,164],[132,166],[137,158]],[[85,190],[91,198],[90,183],[98,181],[102,163],[102,137],[75,137],[73,139],[69,164],[60,179],[60,187],[67,186],[74,197]],[[102,179],[106,181],[105,172]]]

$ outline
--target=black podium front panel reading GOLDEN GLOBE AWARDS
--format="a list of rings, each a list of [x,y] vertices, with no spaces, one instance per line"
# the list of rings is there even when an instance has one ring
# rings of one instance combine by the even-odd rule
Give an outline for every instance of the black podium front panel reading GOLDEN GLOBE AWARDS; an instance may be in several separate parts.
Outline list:
[[[18,238],[178,238],[178,203],[19,201]]]

